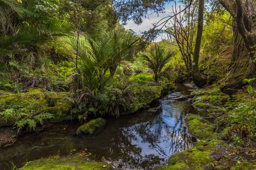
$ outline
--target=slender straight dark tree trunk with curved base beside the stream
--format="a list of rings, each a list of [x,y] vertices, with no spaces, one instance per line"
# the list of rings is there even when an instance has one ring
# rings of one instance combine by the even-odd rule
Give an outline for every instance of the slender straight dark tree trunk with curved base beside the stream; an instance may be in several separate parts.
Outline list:
[[[201,77],[201,74],[200,74],[200,71],[198,68],[203,27],[204,27],[204,0],[199,0],[198,31],[197,31],[197,35],[196,35],[194,59],[193,59],[193,63],[192,63],[192,78],[193,78],[195,85],[198,87],[202,87],[206,83],[206,80]]]

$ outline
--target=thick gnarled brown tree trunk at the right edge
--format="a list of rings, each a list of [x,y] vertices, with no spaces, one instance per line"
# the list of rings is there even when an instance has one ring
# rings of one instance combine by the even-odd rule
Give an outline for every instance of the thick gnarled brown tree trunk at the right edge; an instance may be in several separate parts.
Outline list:
[[[234,49],[229,72],[220,90],[229,95],[241,89],[243,79],[255,77],[256,6],[254,0],[219,0],[234,18]]]

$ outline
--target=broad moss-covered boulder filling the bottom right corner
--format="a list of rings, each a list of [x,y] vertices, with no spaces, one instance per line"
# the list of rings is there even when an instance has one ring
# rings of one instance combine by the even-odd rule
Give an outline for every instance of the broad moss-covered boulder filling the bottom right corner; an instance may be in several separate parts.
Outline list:
[[[240,160],[239,162],[237,160]],[[193,148],[173,154],[167,166],[157,170],[250,170],[253,161],[245,160],[234,146],[221,140],[201,140]]]

